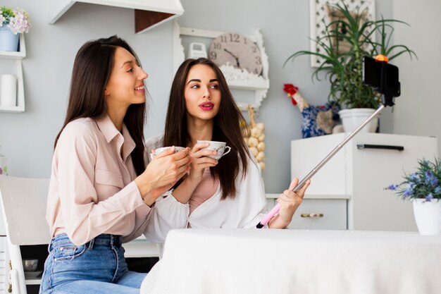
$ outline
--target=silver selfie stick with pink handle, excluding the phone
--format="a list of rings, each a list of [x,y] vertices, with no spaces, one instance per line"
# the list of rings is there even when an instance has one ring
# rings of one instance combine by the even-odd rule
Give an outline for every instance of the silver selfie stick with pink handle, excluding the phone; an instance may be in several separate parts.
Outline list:
[[[322,161],[320,161],[319,164],[317,164],[317,166],[315,168],[313,168],[312,171],[310,171],[306,177],[304,177],[303,180],[300,181],[300,183],[297,184],[297,186],[294,187],[294,189],[292,189],[293,192],[297,192],[298,190],[300,190],[300,188],[303,187],[303,185],[306,183],[306,180],[309,180],[310,178],[312,178],[313,175],[316,174],[316,172],[321,169],[322,166],[325,165],[326,162],[329,161],[329,159],[331,159],[340,149],[342,149],[342,147],[349,142],[349,140],[352,139],[352,137],[354,137],[354,135],[356,135],[356,133],[359,133],[359,131],[369,123],[369,121],[372,120],[372,118],[374,118],[377,114],[380,113],[380,111],[383,110],[383,108],[385,108],[385,106],[383,104],[380,105],[380,107],[378,107],[378,109],[368,118],[366,118],[366,121],[364,121],[363,123],[361,123],[361,125],[359,125],[358,128],[356,128],[352,133],[350,133],[347,137],[344,138],[344,140],[337,145],[337,147],[335,147],[333,149],[333,151],[330,152],[330,154],[328,154]],[[269,221],[271,221],[271,219],[273,219],[273,217],[275,216],[275,214],[277,214],[280,210],[280,204],[278,203],[277,205],[275,205],[275,207],[273,207],[273,209],[270,210],[270,212],[268,212],[268,214],[266,214],[266,216],[263,216],[263,219],[256,225],[256,228],[263,228],[263,226],[265,226]]]

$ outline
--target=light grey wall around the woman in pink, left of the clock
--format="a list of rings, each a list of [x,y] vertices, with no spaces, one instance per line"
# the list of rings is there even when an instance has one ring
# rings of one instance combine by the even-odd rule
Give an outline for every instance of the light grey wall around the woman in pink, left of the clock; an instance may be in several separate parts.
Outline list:
[[[75,4],[49,25],[49,0],[6,0],[0,5],[24,8],[32,22],[25,35],[27,56],[23,59],[26,111],[0,113],[1,153],[8,158],[11,175],[50,176],[54,139],[66,113],[73,60],[90,39],[117,34],[137,51],[149,73],[147,85],[154,100],[146,135],[159,132],[172,79],[171,23],[135,35],[132,9]]]

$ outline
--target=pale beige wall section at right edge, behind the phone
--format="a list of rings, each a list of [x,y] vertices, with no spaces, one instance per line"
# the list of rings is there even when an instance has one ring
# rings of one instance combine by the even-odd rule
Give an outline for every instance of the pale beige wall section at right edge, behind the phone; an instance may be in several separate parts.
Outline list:
[[[441,2],[394,0],[394,18],[411,24],[397,26],[396,44],[411,44],[418,60],[400,59],[402,96],[396,99],[394,133],[441,137]],[[438,144],[441,154],[441,146]]]

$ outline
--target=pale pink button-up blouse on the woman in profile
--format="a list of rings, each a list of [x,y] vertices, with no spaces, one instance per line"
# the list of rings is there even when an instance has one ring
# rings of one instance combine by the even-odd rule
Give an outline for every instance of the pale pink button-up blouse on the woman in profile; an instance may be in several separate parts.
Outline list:
[[[139,194],[130,153],[135,142],[106,116],[66,125],[52,162],[46,220],[51,236],[67,233],[76,245],[101,233],[128,242],[144,233],[151,210]]]

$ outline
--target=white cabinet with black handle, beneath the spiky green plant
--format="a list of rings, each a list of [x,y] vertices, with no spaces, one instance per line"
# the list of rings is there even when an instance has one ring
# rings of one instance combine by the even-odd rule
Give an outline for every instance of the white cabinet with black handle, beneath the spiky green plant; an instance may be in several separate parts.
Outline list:
[[[347,135],[292,141],[291,176],[306,176]],[[384,188],[401,183],[417,159],[435,157],[436,137],[359,133],[311,178],[307,195],[349,195],[349,230],[416,231],[411,202]]]

